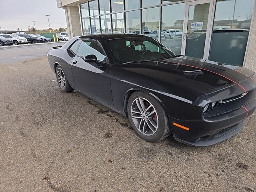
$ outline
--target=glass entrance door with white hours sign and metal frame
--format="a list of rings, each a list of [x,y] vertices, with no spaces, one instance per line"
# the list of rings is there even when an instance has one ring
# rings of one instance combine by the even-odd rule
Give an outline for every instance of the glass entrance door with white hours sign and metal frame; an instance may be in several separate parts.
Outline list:
[[[212,12],[212,0],[186,3],[182,55],[208,59]]]

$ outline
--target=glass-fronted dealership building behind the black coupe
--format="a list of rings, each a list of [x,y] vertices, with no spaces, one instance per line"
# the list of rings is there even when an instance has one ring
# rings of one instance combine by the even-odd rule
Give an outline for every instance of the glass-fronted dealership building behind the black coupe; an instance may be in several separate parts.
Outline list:
[[[256,72],[255,0],[57,0],[71,37],[134,33],[176,54]]]

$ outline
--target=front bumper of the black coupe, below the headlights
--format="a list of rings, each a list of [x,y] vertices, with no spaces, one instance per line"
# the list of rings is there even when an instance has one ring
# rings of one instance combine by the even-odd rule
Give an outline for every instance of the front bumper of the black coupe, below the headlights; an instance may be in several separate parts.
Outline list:
[[[184,130],[172,124],[172,134],[176,141],[192,146],[209,146],[230,138],[240,132],[244,121],[256,109],[256,99],[249,104],[232,112],[222,114],[210,119],[201,120],[174,120],[170,122],[189,128]]]

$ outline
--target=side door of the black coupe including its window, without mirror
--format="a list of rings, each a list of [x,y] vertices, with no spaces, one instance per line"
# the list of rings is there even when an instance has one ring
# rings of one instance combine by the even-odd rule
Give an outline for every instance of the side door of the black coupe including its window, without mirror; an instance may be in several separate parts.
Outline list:
[[[96,62],[85,62],[84,57],[95,55]],[[71,62],[76,86],[95,100],[113,106],[110,86],[110,64],[100,44],[95,40],[82,40],[77,54]]]

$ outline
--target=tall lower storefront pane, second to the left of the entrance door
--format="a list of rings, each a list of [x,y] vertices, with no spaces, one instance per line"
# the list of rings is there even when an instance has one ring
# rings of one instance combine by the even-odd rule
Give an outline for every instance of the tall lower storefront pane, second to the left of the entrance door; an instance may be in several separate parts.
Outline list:
[[[142,9],[142,34],[158,39],[159,7]]]

